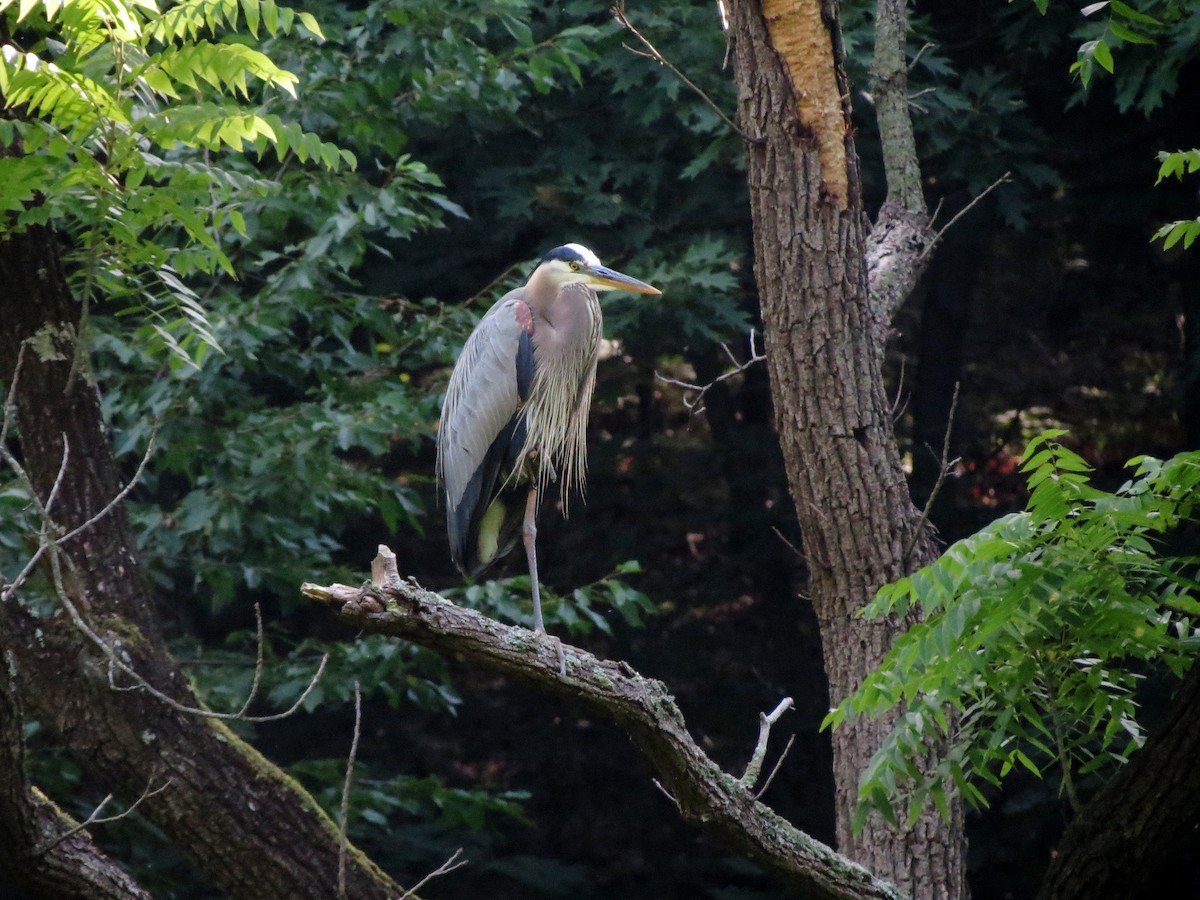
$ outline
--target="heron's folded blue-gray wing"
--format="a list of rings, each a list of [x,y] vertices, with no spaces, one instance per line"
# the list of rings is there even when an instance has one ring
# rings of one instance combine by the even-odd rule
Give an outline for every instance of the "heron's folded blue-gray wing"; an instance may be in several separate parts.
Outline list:
[[[450,551],[463,571],[479,558],[479,524],[524,443],[521,402],[533,378],[532,328],[518,292],[500,298],[455,364],[438,430],[438,474],[445,486]],[[500,548],[503,551],[503,547]]]

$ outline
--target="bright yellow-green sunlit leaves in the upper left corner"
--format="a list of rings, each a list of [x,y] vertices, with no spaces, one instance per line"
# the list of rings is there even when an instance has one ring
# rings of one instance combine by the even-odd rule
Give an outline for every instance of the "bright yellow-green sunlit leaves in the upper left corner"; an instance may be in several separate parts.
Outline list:
[[[0,92],[18,113],[0,120],[5,229],[53,223],[72,238],[77,296],[119,300],[157,343],[203,359],[218,344],[185,280],[234,275],[216,234],[245,236],[244,198],[269,185],[202,154],[272,149],[330,170],[355,163],[256,101],[268,89],[294,98],[298,78],[245,32],[319,38],[316,19],[274,0],[164,12],[154,0],[6,1],[0,14],[11,35]]]

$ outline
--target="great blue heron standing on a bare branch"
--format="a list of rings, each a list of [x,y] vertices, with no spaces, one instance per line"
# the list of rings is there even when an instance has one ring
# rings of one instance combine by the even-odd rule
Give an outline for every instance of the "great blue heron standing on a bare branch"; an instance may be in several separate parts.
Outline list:
[[[557,480],[565,515],[570,493],[583,490],[601,335],[595,292],[613,289],[661,293],[606,269],[578,244],[550,251],[524,287],[497,300],[472,331],[442,406],[438,475],[450,556],[475,576],[512,550],[520,530],[535,631],[546,630],[538,502]]]

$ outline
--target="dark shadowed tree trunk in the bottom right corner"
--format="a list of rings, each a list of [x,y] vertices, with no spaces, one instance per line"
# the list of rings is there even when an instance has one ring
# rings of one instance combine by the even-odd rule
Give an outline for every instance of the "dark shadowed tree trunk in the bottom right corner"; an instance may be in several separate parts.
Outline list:
[[[1170,716],[1072,821],[1038,892],[1039,900],[1147,896],[1200,810],[1200,666]]]

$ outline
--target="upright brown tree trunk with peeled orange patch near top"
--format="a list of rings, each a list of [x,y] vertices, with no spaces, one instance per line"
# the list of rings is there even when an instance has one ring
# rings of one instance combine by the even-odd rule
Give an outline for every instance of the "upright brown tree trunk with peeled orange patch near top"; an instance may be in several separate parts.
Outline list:
[[[731,31],[742,128],[761,138],[746,174],[775,426],[840,698],[902,628],[857,611],[935,546],[917,532],[883,391],[836,4],[737,0]],[[962,896],[960,808],[902,833],[878,820],[851,830],[859,774],[889,727],[856,721],[833,734],[838,846],[914,896]]]

